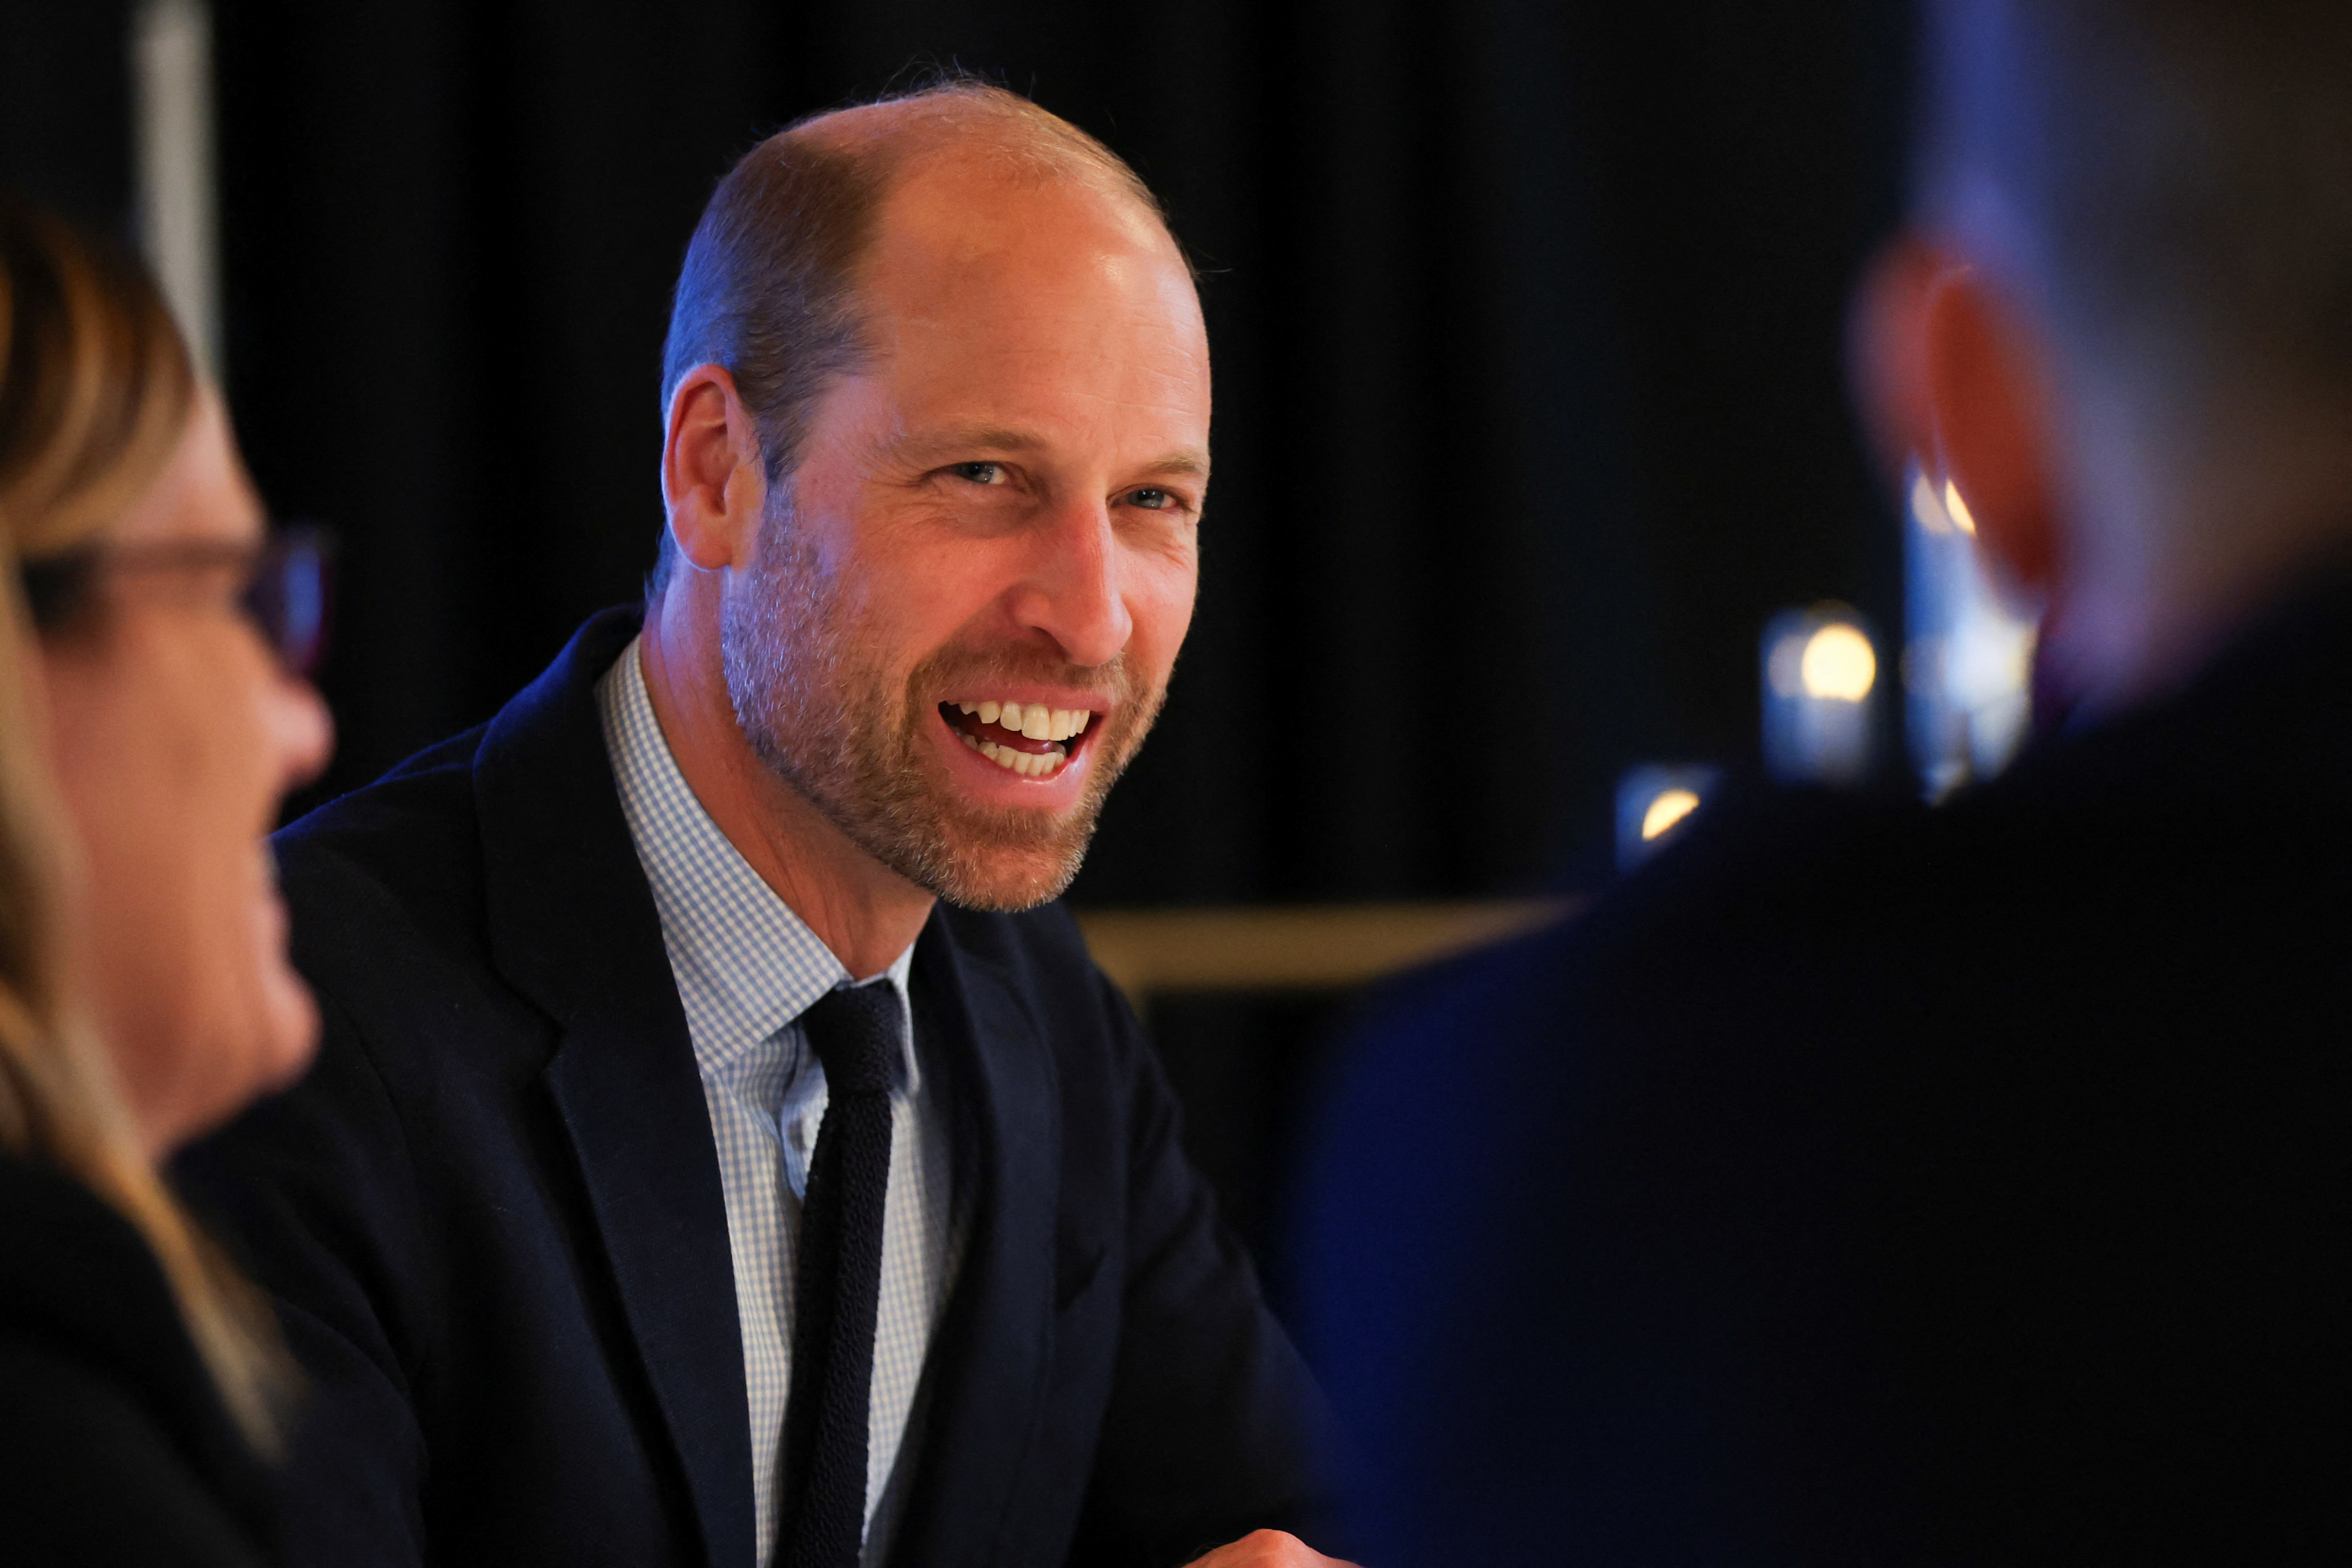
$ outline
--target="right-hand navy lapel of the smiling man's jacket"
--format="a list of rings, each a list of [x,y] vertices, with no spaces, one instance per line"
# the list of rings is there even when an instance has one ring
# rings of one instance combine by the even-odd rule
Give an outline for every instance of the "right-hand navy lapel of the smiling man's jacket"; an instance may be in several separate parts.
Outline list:
[[[983,1563],[1018,1490],[1054,1359],[1061,1093],[1018,990],[964,950],[938,910],[915,947],[915,1006],[953,1063],[957,1135],[974,1159],[971,1234],[924,1366],[922,1467],[894,1559]],[[964,1175],[969,1173],[969,1175]]]

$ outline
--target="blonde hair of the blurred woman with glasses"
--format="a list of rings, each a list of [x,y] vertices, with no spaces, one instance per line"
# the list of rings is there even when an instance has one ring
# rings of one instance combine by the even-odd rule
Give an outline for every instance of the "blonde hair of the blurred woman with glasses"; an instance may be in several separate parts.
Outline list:
[[[162,1185],[68,983],[75,863],[19,576],[106,534],[162,473],[195,395],[153,282],[0,193],[0,1150],[68,1171],[139,1227],[230,1415],[275,1453],[289,1363],[268,1307]]]

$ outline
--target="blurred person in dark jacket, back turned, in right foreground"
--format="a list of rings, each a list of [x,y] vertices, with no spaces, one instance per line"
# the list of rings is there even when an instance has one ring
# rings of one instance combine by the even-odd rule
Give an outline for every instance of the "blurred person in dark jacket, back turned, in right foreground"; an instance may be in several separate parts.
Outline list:
[[[1863,395],[2067,719],[1388,999],[1301,1324],[1367,1561],[2352,1554],[2352,7],[1922,66]]]

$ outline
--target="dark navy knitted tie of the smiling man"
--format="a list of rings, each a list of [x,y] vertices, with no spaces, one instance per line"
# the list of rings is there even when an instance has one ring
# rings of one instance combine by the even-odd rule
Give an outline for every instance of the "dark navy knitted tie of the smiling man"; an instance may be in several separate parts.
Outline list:
[[[826,1121],[800,1206],[793,1394],[783,1410],[779,1568],[856,1568],[866,1540],[866,1436],[889,1197],[889,1086],[898,992],[851,985],[800,1018],[826,1065]]]

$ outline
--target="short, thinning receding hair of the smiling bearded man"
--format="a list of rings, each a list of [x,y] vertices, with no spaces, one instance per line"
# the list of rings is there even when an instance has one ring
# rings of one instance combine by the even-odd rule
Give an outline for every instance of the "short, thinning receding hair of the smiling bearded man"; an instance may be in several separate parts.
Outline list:
[[[844,113],[884,106],[896,113],[880,132],[842,134]],[[1025,179],[1091,181],[1167,223],[1117,153],[993,82],[941,78],[809,115],[746,153],[694,226],[661,350],[663,418],[689,369],[722,364],[760,428],[769,484],[788,482],[816,400],[868,355],[856,270],[882,200],[898,174],[948,150],[978,153]],[[675,552],[663,529],[649,599],[661,595]]]

